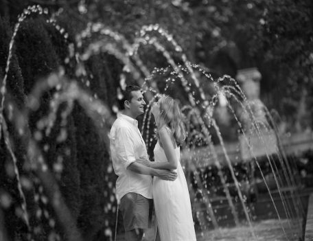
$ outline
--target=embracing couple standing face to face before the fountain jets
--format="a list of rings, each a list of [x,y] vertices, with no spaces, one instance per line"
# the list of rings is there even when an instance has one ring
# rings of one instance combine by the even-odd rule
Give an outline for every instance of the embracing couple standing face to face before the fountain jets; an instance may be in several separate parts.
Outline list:
[[[136,120],[146,105],[141,89],[128,86],[123,96],[122,111],[111,128],[110,148],[118,176],[116,195],[124,218],[125,239],[143,238],[151,228],[154,207],[156,240],[194,241],[192,207],[180,163],[179,146],[185,141],[185,129],[178,104],[172,97],[163,96],[151,108],[158,141],[154,161],[150,161]]]

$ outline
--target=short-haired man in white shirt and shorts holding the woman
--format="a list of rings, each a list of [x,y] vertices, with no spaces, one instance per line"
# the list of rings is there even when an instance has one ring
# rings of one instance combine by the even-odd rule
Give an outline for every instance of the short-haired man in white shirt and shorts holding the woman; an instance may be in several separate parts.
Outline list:
[[[176,172],[148,168],[136,160],[148,157],[146,145],[135,118],[144,113],[141,90],[128,86],[121,101],[121,113],[113,123],[110,133],[110,149],[113,168],[118,178],[116,195],[124,218],[125,239],[141,240],[144,229],[152,216],[152,176],[174,181]]]

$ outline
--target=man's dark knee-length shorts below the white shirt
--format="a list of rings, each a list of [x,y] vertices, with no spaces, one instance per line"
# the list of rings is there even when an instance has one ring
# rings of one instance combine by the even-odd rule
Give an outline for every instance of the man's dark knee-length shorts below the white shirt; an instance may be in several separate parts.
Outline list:
[[[151,226],[153,200],[135,192],[128,192],[121,198],[119,210],[123,214],[124,229],[148,229]]]

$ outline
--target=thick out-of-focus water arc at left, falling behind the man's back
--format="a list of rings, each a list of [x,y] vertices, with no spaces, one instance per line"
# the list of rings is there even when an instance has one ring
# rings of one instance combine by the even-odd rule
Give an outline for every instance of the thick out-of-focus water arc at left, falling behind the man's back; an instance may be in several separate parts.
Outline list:
[[[102,104],[102,102],[100,102],[99,100],[95,100],[93,97],[91,97],[89,94],[85,93],[82,89],[80,89],[80,87],[78,87],[78,85],[76,84],[76,82],[67,82],[64,78],[62,78],[62,76],[56,76],[56,75],[52,75],[49,78],[47,78],[47,80],[40,82],[38,85],[40,85],[40,87],[35,87],[35,89],[40,89],[40,90],[45,90],[47,91],[47,89],[45,88],[54,88],[56,86],[58,86],[59,84],[61,84],[60,87],[60,91],[59,92],[56,100],[56,106],[60,106],[61,102],[73,102],[73,100],[77,100],[81,106],[84,107],[84,109],[86,110],[86,113],[89,114],[91,116],[91,118],[94,119],[95,124],[97,125],[102,125],[102,119],[104,118],[106,120],[106,122],[111,122],[113,121],[113,119],[111,118],[111,111],[108,110],[108,108],[106,106],[104,106],[104,104]],[[37,99],[37,97],[39,98],[40,95],[31,95],[32,97],[30,98],[30,108],[34,109],[36,108],[36,106],[38,106],[38,102],[39,99]],[[71,104],[69,105],[71,106]],[[58,107],[56,107],[58,108]],[[51,113],[54,113],[55,110],[52,109]],[[62,120],[61,122],[66,122],[65,119],[66,117],[69,115],[69,113],[71,112],[71,108],[65,108],[65,112],[63,112],[63,114],[61,114],[62,116]],[[27,112],[25,112],[27,113]],[[48,116],[51,116],[51,113],[48,113]],[[28,119],[27,116],[23,116],[25,114],[19,113],[17,112],[17,109],[14,108],[14,113],[12,114],[12,119],[13,120],[21,120],[21,119]],[[54,118],[51,117],[51,122],[54,121]],[[5,122],[3,122],[5,123]],[[48,122],[49,123],[49,122]],[[15,128],[16,130],[23,130],[22,132],[23,134],[23,138],[27,138],[27,133],[30,133],[29,130],[27,130],[27,124],[25,122],[20,122],[20,121],[16,121],[15,122]],[[47,125],[49,126],[49,125]],[[100,127],[99,126],[99,127]],[[43,126],[41,126],[43,127]],[[40,127],[40,128],[41,128]],[[43,158],[43,154],[40,154],[40,150],[39,148],[36,146],[36,130],[34,131],[34,139],[30,139],[29,141],[27,141],[28,144],[28,154],[29,154],[29,160],[31,160],[32,162],[30,163],[30,166],[32,167],[32,170],[36,171],[40,181],[43,183],[45,190],[47,189],[47,187],[49,187],[49,185],[51,185],[51,183],[53,183],[54,181],[52,181],[51,179],[46,180],[47,176],[49,176],[49,168],[47,167],[47,164],[45,163],[45,159]],[[103,133],[103,135],[105,135]],[[30,137],[32,138],[32,137]],[[64,141],[65,139],[59,139],[59,141]],[[108,141],[106,142],[108,143]],[[9,148],[10,146],[8,146]],[[42,176],[44,175],[44,176]],[[19,177],[16,174],[17,177]],[[50,183],[49,183],[50,182]],[[21,181],[18,179],[18,185],[21,185]],[[49,189],[48,189],[49,190]],[[47,190],[46,190],[47,191]],[[57,190],[54,191],[55,194],[53,195],[54,198],[56,199],[52,199],[51,200],[51,205],[54,207],[56,214],[59,216],[59,218],[63,218],[64,225],[65,227],[67,227],[69,224],[73,224],[75,223],[74,220],[71,220],[71,215],[69,214],[69,211],[66,209],[66,205],[62,204],[62,198],[60,196],[60,193],[58,193]],[[43,195],[43,187],[38,187],[38,193],[34,196],[35,201],[38,202],[39,200],[43,203],[43,204],[47,204],[48,202],[48,198],[45,197],[45,195]],[[51,198],[51,195],[50,197]],[[24,207],[25,205],[22,204],[22,207]],[[60,212],[62,210],[62,212]],[[40,218],[41,216],[44,216],[45,218],[47,218],[50,227],[53,229],[54,225],[55,225],[55,221],[54,218],[51,218],[49,216],[49,213],[47,211],[47,209],[38,209],[36,211],[36,217]],[[25,217],[27,217],[27,210],[25,209]],[[36,233],[36,227],[34,228],[34,233]],[[69,240],[80,240],[80,234],[78,233],[78,231],[76,230],[76,227],[73,227],[73,225],[70,225],[69,228],[66,230],[69,236]],[[57,234],[54,234],[56,236],[56,238],[58,237]],[[71,238],[72,237],[72,238]]]

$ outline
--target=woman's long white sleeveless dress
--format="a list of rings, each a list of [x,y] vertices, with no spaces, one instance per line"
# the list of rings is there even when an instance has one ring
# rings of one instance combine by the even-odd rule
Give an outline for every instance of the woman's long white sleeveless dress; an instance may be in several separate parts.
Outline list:
[[[180,148],[177,147],[175,152],[178,160],[175,170],[177,179],[165,181],[156,176],[153,178],[153,200],[159,235],[161,241],[196,240],[187,181],[180,162]],[[159,141],[154,148],[154,161],[167,161]]]

